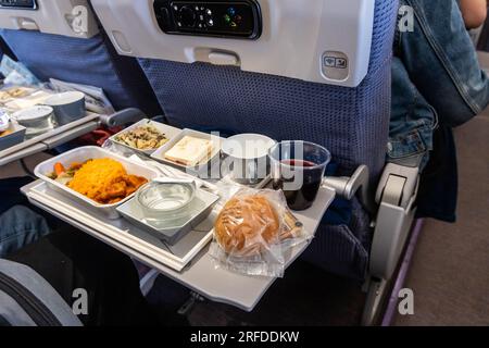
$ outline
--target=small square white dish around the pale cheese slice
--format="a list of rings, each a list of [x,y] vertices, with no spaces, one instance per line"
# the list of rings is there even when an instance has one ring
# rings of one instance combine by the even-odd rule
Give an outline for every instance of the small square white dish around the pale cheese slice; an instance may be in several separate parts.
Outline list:
[[[165,159],[165,153],[170,151],[179,140],[181,140],[185,136],[191,136],[195,138],[201,138],[201,139],[210,139],[213,141],[213,150],[211,152],[211,156],[206,159],[206,161],[203,161],[199,163],[197,166],[185,166],[179,163],[168,161]],[[189,174],[192,175],[199,175],[199,176],[205,176],[211,173],[211,170],[221,163],[221,145],[223,142],[223,138],[218,136],[213,136],[208,133],[197,132],[193,129],[185,128],[181,130],[181,133],[173,138],[171,141],[166,142],[164,146],[162,146],[160,149],[158,149],[153,154],[151,154],[151,158],[155,161],[163,162],[165,164],[170,164],[172,166],[178,167]],[[218,167],[217,167],[218,170]]]

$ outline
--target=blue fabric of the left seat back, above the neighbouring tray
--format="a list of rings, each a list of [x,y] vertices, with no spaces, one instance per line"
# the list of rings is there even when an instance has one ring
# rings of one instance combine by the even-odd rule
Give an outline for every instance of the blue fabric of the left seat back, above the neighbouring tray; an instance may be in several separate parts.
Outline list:
[[[50,77],[103,88],[116,110],[136,107],[161,114],[151,86],[135,59],[118,55],[105,34],[90,39],[2,29],[18,61],[38,78]]]

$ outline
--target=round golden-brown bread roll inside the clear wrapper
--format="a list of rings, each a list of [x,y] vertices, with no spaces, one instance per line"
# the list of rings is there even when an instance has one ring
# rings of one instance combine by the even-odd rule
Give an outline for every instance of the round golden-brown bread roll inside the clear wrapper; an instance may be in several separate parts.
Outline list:
[[[280,223],[264,196],[230,199],[215,222],[215,237],[227,253],[253,256],[277,243]]]

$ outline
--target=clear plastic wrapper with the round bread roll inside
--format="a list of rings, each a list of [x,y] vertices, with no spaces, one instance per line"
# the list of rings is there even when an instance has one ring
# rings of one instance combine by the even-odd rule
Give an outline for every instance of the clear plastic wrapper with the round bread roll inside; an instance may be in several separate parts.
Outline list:
[[[310,238],[289,212],[281,191],[244,188],[217,216],[210,254],[217,268],[281,277],[287,252]]]

